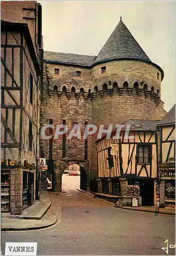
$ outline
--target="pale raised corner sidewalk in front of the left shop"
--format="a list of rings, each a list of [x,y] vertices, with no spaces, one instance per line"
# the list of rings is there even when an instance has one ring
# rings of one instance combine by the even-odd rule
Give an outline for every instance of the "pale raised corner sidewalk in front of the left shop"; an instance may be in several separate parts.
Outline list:
[[[41,200],[36,201],[22,215],[13,215],[10,218],[2,218],[2,231],[33,230],[46,228],[54,225],[57,220],[61,221],[61,207],[57,213],[52,213],[52,207],[47,192],[41,193]]]

